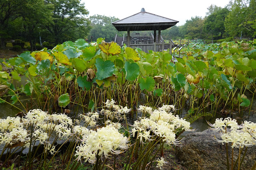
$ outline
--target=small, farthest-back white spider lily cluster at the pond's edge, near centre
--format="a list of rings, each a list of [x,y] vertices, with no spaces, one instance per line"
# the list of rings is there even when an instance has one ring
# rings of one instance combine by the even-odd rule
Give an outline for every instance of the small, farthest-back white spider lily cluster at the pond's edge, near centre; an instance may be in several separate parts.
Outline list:
[[[128,109],[127,106],[123,107],[123,106],[115,105],[114,103],[116,102],[113,99],[111,99],[111,101],[107,99],[107,102],[105,103],[107,109],[102,109],[100,113],[102,115],[105,115],[107,119],[114,119],[114,118],[117,120],[125,119],[125,115],[129,113],[131,109]]]

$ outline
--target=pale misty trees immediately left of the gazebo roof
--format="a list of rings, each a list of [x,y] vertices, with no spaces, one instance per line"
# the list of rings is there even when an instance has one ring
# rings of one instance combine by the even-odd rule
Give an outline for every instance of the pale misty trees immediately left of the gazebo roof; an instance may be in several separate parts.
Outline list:
[[[122,36],[122,32],[118,32],[112,25],[112,22],[119,20],[115,17],[107,17],[102,15],[90,16],[91,31],[89,33],[89,39],[96,41],[97,38],[105,38],[106,42],[111,42],[115,38],[115,35]]]

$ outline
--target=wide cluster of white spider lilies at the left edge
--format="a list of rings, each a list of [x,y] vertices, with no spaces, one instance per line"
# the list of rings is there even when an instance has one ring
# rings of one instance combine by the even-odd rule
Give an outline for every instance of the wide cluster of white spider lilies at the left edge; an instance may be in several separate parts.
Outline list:
[[[73,121],[65,114],[52,114],[40,109],[30,110],[25,117],[7,117],[0,119],[0,144],[12,146],[30,146],[30,135],[32,141],[38,140],[40,144],[47,144],[49,135],[55,131],[59,138],[69,138]],[[33,129],[33,131],[31,131]],[[51,146],[50,146],[51,147]],[[49,150],[54,153],[55,146]]]

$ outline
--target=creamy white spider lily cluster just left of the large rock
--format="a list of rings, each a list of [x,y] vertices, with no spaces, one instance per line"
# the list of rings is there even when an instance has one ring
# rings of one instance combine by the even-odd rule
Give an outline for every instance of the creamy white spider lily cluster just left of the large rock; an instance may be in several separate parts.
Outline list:
[[[159,110],[152,111],[149,107],[140,106],[138,110],[145,111],[147,108],[148,111],[151,110],[151,114],[149,118],[143,118],[140,121],[134,122],[132,129],[133,137],[138,133],[137,138],[140,139],[140,142],[143,142],[143,140],[147,142],[147,140],[152,140],[152,136],[150,134],[153,132],[152,135],[163,137],[163,141],[169,145],[179,144],[179,140],[175,138],[177,128],[181,128],[181,130],[186,131],[191,129],[189,122],[179,118],[178,115],[175,116],[169,112],[171,109],[174,110],[173,107],[173,105],[164,105],[159,108]]]

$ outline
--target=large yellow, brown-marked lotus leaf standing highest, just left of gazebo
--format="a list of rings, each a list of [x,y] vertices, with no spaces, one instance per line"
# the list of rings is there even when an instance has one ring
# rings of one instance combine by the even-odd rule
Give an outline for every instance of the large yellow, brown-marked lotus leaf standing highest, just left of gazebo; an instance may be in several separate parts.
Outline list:
[[[115,42],[106,43],[103,40],[101,44],[99,44],[99,48],[101,51],[103,51],[103,53],[106,53],[107,55],[117,55],[121,53],[121,47]]]

